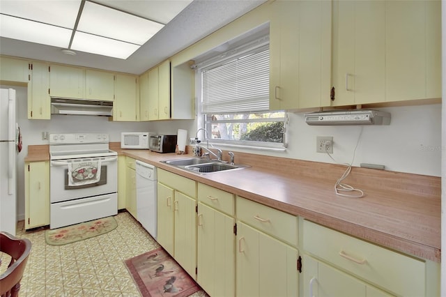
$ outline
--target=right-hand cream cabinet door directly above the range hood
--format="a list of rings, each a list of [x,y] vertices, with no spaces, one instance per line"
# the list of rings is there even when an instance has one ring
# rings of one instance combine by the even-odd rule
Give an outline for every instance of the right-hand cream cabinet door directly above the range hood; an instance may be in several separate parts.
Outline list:
[[[85,70],[85,98],[113,101],[114,74],[98,70]]]

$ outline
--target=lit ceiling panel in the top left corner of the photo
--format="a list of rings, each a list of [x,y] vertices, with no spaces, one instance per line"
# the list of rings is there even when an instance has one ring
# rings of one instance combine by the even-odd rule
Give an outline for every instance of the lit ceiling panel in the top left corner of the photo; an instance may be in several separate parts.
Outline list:
[[[73,29],[81,0],[1,0],[0,13]]]

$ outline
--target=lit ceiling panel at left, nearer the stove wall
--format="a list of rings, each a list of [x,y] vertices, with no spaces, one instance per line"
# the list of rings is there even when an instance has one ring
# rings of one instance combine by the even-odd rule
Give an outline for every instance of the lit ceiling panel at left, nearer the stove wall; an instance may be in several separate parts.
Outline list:
[[[0,15],[1,37],[52,45],[54,47],[68,47],[71,32],[72,30],[59,26],[32,22],[8,15]]]

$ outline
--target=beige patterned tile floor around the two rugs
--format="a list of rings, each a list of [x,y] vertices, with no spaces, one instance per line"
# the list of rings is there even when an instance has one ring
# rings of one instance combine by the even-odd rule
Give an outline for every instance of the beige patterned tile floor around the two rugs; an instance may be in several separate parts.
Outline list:
[[[45,229],[24,231],[19,222],[17,236],[33,244],[20,296],[141,296],[123,261],[160,245],[129,213],[115,218],[113,231],[61,246],[45,243]]]

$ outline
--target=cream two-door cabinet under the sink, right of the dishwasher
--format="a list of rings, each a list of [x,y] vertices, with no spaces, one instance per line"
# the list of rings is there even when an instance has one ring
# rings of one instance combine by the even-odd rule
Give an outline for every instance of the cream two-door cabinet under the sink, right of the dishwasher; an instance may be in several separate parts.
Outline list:
[[[197,279],[197,182],[157,169],[157,241]]]

